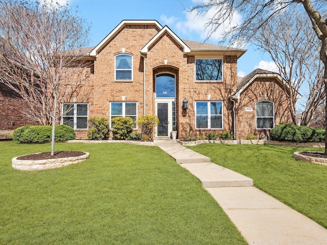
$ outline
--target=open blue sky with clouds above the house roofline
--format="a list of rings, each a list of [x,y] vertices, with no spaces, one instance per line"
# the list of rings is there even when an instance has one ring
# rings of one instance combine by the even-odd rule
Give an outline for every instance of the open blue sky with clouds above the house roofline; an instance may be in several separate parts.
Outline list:
[[[206,17],[194,16],[185,11],[201,0],[69,0],[68,4],[78,7],[79,16],[91,23],[90,46],[97,45],[124,19],[155,19],[167,26],[181,39],[204,42],[207,34]],[[63,3],[66,0],[54,0]],[[241,19],[237,16],[236,19]],[[208,43],[219,44],[219,33]],[[260,51],[250,45],[238,61],[238,75],[244,77],[255,68],[276,71],[276,66]]]

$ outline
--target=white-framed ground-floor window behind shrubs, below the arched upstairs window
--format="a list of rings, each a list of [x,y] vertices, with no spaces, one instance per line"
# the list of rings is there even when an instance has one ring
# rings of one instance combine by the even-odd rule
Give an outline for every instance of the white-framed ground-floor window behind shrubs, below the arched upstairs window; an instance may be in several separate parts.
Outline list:
[[[110,102],[110,128],[111,119],[119,116],[129,116],[134,122],[133,129],[136,129],[135,121],[137,119],[137,103],[136,102]]]

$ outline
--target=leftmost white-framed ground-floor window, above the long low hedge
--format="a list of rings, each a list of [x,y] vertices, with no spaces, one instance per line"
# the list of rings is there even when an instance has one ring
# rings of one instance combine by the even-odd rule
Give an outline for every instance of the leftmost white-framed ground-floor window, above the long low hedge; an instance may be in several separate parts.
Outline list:
[[[62,124],[73,129],[87,129],[88,104],[64,103],[62,105]]]

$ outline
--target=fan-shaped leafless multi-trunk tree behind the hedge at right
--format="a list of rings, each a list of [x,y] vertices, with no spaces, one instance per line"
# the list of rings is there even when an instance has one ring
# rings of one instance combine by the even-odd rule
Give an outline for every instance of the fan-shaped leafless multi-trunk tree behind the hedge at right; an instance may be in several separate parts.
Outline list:
[[[297,124],[298,91],[303,83],[308,86],[302,94],[307,100],[301,105],[304,110],[300,125],[305,126],[310,124],[316,108],[325,97],[319,40],[309,21],[303,12],[285,9],[272,16],[250,40],[259,50],[269,54],[284,78],[284,90],[294,124]]]

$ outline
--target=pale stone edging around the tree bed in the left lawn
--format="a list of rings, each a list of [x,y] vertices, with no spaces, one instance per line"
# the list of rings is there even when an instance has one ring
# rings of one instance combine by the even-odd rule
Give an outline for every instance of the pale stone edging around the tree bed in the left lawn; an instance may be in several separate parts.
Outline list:
[[[14,157],[11,161],[11,165],[13,168],[23,171],[53,169],[85,161],[88,158],[89,153],[84,153],[84,155],[79,157],[65,157],[45,160],[18,160],[17,157]]]

